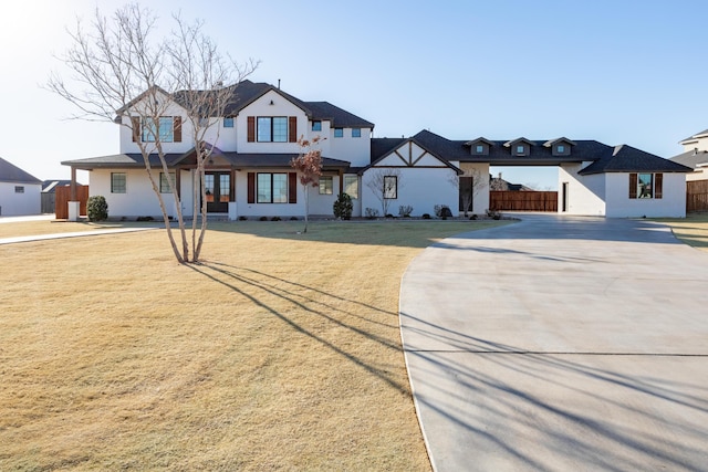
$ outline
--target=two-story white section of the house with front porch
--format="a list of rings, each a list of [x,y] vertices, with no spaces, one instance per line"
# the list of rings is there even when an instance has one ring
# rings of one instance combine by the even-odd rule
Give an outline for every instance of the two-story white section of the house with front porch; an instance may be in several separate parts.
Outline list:
[[[178,187],[183,212],[191,217],[195,185],[195,143],[190,122],[179,98],[170,103],[158,124],[139,123],[139,118],[121,114],[121,154],[62,162],[88,170],[91,195],[102,195],[111,216],[139,217],[160,214],[158,201],[145,172],[137,140],[154,139],[154,126],[170,175],[160,172],[159,187],[168,208],[174,199],[168,178]],[[358,200],[356,170],[371,164],[374,124],[327,102],[303,102],[266,83],[241,82],[226,108],[225,116],[211,117],[205,141],[215,146],[206,162],[207,211],[209,214],[237,217],[302,217],[303,187],[290,166],[302,151],[300,137],[325,138],[322,150],[322,177],[317,188],[310,188],[311,214],[332,214],[341,191]],[[133,122],[131,122],[133,120]],[[152,156],[159,168],[157,155]],[[357,204],[357,208],[361,206]],[[168,210],[169,211],[169,210]]]

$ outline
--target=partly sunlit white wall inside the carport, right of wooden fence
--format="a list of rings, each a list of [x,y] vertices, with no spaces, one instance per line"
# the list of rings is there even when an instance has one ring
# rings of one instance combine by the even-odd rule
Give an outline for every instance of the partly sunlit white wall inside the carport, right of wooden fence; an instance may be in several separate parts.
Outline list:
[[[569,183],[565,214],[602,217],[605,214],[604,175],[579,176],[577,171],[590,162],[563,164],[558,170],[558,208],[563,208],[563,183]],[[626,187],[626,186],[625,186]]]

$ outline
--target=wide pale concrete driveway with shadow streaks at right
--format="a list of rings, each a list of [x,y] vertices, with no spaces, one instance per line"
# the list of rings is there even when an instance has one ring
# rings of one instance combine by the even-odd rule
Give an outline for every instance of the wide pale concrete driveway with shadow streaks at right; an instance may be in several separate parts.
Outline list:
[[[708,470],[708,253],[642,220],[520,218],[404,275],[434,469]]]

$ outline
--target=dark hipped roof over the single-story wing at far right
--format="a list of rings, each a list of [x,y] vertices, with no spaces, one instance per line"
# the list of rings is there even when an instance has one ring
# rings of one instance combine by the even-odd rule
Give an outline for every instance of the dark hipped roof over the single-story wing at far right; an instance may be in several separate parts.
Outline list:
[[[627,145],[615,146],[610,156],[594,161],[577,174],[587,176],[605,172],[690,172],[691,169],[663,157]]]

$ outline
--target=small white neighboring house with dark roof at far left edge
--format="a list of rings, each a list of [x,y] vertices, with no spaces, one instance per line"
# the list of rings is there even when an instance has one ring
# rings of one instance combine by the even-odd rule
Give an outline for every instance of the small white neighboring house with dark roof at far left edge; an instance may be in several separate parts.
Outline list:
[[[0,158],[0,216],[40,214],[42,181]]]

